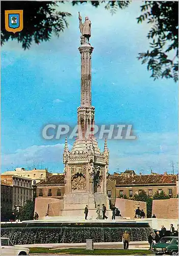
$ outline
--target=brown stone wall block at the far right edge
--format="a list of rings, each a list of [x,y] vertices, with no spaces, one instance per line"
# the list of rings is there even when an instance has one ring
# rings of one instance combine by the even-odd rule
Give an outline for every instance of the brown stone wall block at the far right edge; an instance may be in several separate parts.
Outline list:
[[[178,219],[178,199],[153,200],[152,214],[158,219]]]

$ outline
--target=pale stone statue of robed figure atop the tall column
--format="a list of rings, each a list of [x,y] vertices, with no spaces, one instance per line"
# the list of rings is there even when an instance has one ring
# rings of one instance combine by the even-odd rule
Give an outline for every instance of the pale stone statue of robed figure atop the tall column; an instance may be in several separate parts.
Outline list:
[[[80,20],[80,32],[82,33],[82,36],[84,36],[85,41],[87,44],[89,44],[89,38],[91,36],[91,22],[88,17],[85,17],[84,24],[82,23],[82,17],[79,12],[79,20]]]

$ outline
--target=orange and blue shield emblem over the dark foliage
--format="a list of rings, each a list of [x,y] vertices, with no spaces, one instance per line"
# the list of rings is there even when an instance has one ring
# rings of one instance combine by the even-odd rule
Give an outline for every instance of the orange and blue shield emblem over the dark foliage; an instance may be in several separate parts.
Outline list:
[[[23,29],[23,10],[6,10],[5,28],[13,33],[21,31]]]

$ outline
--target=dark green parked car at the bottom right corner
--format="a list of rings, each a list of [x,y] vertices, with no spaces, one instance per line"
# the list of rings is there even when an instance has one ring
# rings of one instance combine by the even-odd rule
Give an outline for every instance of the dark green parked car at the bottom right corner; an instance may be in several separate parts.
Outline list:
[[[178,252],[178,238],[177,237],[164,237],[161,238],[157,244],[152,246],[152,252],[159,254],[176,255]]]

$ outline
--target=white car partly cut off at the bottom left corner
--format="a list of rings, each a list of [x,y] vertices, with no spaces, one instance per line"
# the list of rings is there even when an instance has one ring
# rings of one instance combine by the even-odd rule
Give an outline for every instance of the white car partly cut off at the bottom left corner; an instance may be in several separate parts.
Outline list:
[[[13,245],[9,238],[1,238],[1,253],[4,255],[29,255],[29,248],[21,247],[19,245]]]

